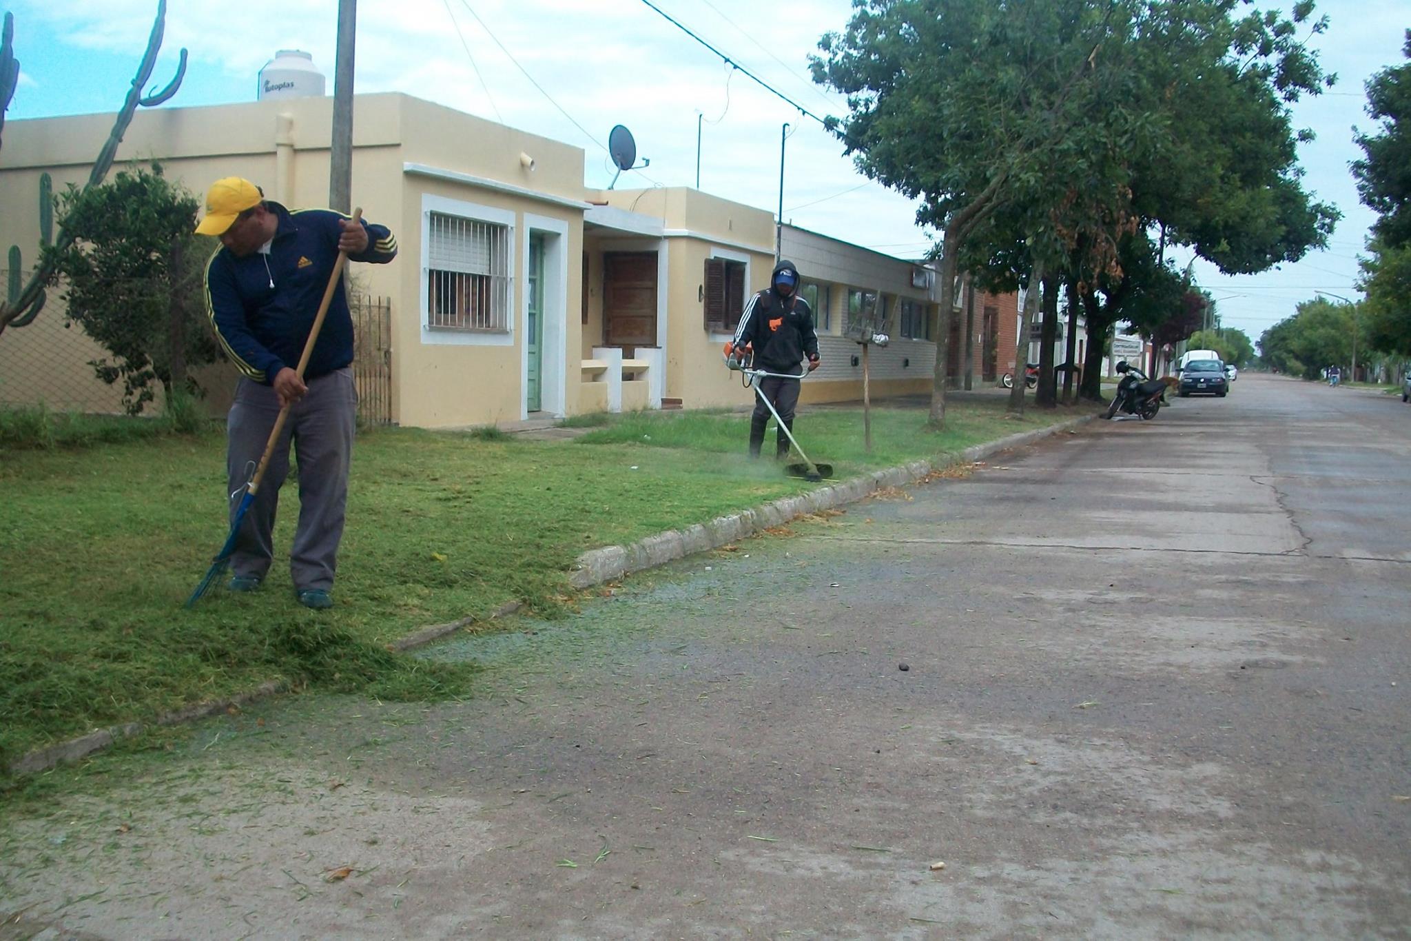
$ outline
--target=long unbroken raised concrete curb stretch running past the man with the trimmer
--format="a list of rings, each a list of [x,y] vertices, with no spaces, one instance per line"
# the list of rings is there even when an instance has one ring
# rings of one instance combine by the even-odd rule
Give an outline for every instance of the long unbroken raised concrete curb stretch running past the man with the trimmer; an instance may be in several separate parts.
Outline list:
[[[999,451],[1007,451],[1053,435],[1061,435],[1085,422],[1091,422],[1092,418],[1086,415],[1051,425],[1050,427],[1010,435],[988,444],[967,447],[959,454],[943,461],[912,461],[902,467],[873,471],[862,477],[831,484],[830,487],[820,487],[807,494],[785,497],[755,509],[745,509],[729,516],[717,516],[708,523],[696,523],[686,529],[669,529],[655,533],[626,546],[593,549],[579,556],[569,581],[574,588],[580,590],[591,588],[605,581],[617,581],[634,571],[665,566],[669,561],[684,559],[697,552],[720,549],[738,539],[745,539],[756,532],[780,526],[809,514],[856,502],[883,487],[903,487],[945,467],[971,464]]]

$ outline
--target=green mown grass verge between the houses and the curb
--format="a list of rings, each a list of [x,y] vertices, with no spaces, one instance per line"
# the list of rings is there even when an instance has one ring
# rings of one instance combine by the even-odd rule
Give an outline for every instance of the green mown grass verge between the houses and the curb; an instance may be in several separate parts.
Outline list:
[[[796,430],[810,457],[847,477],[1088,411],[1030,409],[1016,422],[1003,408],[952,403],[940,433],[926,429],[923,409],[876,408],[871,456],[859,411],[809,411]],[[182,608],[226,538],[219,432],[0,450],[0,767],[52,741],[271,679],[385,697],[464,690],[464,669],[394,656],[385,643],[507,601],[552,614],[573,604],[567,571],[587,549],[814,487],[745,459],[741,413],[586,423],[598,426],[567,442],[360,436],[327,612],[292,597],[292,480],[261,591],[212,590]]]

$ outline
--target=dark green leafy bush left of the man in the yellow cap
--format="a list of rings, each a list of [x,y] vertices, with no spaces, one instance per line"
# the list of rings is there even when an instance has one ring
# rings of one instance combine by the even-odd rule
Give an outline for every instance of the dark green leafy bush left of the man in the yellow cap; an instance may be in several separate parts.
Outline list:
[[[58,198],[71,244],[45,250],[63,281],[71,322],[111,360],[93,360],[100,380],[123,380],[123,403],[138,415],[161,382],[196,391],[188,367],[220,358],[206,326],[202,268],[209,240],[193,234],[196,196],[171,182],[161,164],[119,172],[110,182]]]

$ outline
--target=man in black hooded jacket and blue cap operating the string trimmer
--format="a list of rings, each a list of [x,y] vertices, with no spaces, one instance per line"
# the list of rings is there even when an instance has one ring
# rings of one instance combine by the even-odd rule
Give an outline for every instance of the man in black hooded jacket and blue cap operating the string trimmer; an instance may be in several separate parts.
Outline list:
[[[727,356],[731,353],[745,361],[753,354],[753,365],[769,372],[799,375],[804,357],[809,358],[810,372],[818,368],[821,360],[818,334],[813,329],[813,310],[809,309],[809,302],[799,296],[799,269],[792,261],[775,265],[769,288],[749,299]],[[783,426],[793,430],[794,409],[799,405],[799,380],[763,377],[759,380],[759,391],[773,403]],[[769,406],[756,399],[755,412],[749,416],[751,457],[759,457],[768,423]],[[775,456],[779,460],[789,457],[789,435],[785,427],[776,432]]]

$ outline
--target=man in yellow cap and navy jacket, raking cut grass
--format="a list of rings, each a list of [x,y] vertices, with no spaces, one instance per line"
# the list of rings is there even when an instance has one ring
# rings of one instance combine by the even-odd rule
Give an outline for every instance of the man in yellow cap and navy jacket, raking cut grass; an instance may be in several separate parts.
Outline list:
[[[226,354],[244,374],[227,419],[227,492],[244,487],[279,411],[291,406],[236,538],[230,588],[254,591],[274,561],[274,518],[292,443],[299,463],[299,526],[289,574],[301,604],[332,607],[357,418],[353,317],[341,284],[303,378],[295,367],[339,251],[351,261],[385,264],[396,255],[396,240],[385,226],[354,223],[332,209],[291,212],[238,176],[210,185],[196,231],[220,237],[222,248],[206,264],[206,312]]]

